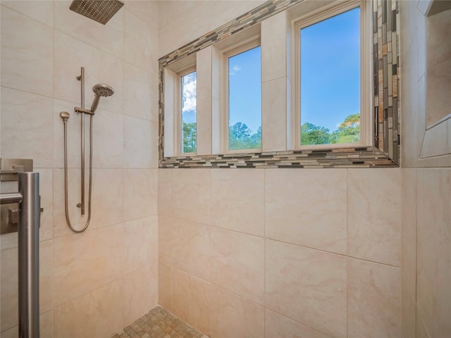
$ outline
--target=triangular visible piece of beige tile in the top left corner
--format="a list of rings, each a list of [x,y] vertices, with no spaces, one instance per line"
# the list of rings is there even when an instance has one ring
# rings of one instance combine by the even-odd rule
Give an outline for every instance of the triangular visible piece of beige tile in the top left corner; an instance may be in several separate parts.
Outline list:
[[[3,6],[13,9],[23,15],[53,27],[54,25],[54,1],[1,1]]]

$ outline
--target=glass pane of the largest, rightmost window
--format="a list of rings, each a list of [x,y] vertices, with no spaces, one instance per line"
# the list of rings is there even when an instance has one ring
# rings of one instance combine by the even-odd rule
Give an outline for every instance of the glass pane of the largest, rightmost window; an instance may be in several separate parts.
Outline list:
[[[360,141],[360,8],[304,27],[301,144]]]

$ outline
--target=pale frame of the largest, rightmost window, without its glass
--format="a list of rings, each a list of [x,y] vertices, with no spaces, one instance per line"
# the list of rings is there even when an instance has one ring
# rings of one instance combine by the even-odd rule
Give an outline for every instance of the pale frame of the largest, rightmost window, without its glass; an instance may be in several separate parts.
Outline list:
[[[320,8],[316,13],[297,18],[292,22],[292,125],[291,141],[294,149],[338,149],[355,148],[356,146],[372,146],[372,63],[371,63],[371,4],[366,1],[346,1],[339,5]],[[307,144],[301,145],[301,56],[300,56],[300,30],[303,27],[314,25],[335,15],[360,7],[360,142],[347,144]]]

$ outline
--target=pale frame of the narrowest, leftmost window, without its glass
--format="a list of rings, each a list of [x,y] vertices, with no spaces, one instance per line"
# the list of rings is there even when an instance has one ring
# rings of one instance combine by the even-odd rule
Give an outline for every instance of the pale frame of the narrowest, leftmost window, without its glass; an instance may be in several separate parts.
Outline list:
[[[196,137],[196,151],[192,151],[190,153],[183,152],[183,125],[182,125],[182,77],[196,72],[196,65],[190,65],[187,68],[183,68],[183,70],[178,71],[176,73],[177,76],[177,84],[175,89],[175,130],[174,130],[174,144],[175,151],[180,156],[192,156],[196,154],[197,151],[197,137]],[[197,73],[196,73],[196,107],[197,107]],[[196,108],[196,130],[197,130],[197,108]],[[197,133],[196,133],[197,134]]]

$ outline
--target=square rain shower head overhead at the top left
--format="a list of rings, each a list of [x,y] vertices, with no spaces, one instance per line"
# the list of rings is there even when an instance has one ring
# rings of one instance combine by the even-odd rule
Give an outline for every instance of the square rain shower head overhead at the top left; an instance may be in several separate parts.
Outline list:
[[[105,25],[122,6],[119,0],[73,0],[69,9]]]

